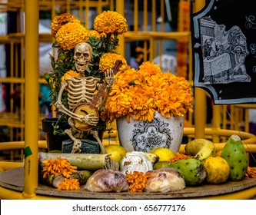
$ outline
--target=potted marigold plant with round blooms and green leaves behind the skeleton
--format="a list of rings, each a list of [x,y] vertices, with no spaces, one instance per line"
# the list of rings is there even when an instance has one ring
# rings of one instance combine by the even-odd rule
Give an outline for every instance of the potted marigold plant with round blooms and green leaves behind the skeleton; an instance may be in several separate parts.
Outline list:
[[[55,38],[52,47],[58,50],[58,55],[57,58],[50,55],[52,71],[45,74],[45,80],[52,89],[51,104],[57,101],[58,92],[65,78],[78,76],[75,71],[74,49],[81,41],[88,42],[93,50],[85,76],[101,78],[102,83],[105,81],[103,71],[112,68],[116,60],[121,60],[123,63],[119,71],[125,70],[127,67],[125,58],[115,54],[115,48],[118,46],[118,35],[124,34],[127,29],[126,19],[118,12],[102,12],[95,18],[93,30],[86,29],[74,15],[69,13],[57,15],[52,21],[51,32]],[[67,91],[62,95],[62,104],[68,108]],[[61,116],[62,120],[67,120],[65,114]]]

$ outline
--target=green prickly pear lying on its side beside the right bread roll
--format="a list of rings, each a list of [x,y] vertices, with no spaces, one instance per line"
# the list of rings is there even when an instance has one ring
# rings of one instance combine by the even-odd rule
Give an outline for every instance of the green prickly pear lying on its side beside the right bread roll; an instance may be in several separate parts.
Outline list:
[[[206,170],[201,160],[187,158],[171,163],[169,167],[178,170],[184,177],[186,185],[200,184],[206,177]]]

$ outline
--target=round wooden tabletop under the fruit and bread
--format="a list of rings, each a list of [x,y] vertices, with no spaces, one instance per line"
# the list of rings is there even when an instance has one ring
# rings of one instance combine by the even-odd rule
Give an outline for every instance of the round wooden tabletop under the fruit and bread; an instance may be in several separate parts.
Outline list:
[[[0,186],[22,192],[24,187],[23,168],[19,167],[0,173]],[[81,185],[80,190],[58,190],[55,187],[38,184],[38,188],[35,189],[35,194],[69,199],[196,199],[200,197],[231,194],[251,187],[256,187],[255,178],[244,178],[241,181],[228,181],[225,184],[205,183],[198,186],[185,187],[184,190],[169,193],[93,193],[85,190],[84,185]]]

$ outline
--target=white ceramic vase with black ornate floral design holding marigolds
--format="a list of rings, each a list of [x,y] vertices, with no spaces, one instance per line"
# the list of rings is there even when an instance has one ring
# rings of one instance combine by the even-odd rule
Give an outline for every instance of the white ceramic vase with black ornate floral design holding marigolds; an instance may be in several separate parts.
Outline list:
[[[174,153],[181,147],[184,117],[166,118],[155,113],[154,120],[130,123],[125,117],[117,120],[118,137],[126,151],[151,151],[155,147],[166,147]]]

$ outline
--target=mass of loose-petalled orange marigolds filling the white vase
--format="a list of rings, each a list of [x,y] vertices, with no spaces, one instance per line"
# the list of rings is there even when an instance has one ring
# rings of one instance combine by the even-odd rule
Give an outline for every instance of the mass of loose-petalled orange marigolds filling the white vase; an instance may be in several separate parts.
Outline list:
[[[155,111],[165,117],[184,116],[193,111],[193,101],[185,78],[163,73],[157,64],[146,61],[138,70],[128,68],[117,74],[101,115],[110,121],[123,116],[127,121],[152,121]]]

